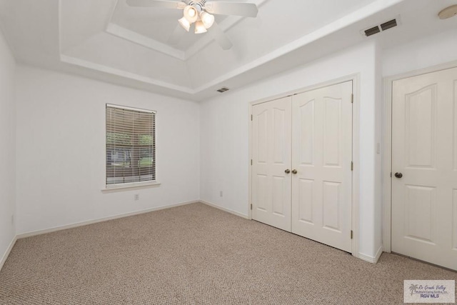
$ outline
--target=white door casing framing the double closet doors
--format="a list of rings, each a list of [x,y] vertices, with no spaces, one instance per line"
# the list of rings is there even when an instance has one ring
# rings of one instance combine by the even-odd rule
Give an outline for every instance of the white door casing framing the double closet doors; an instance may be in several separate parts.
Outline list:
[[[311,86],[305,86],[300,89],[293,91],[286,91],[281,94],[276,94],[275,96],[269,96],[264,99],[259,99],[257,101],[251,101],[249,103],[248,111],[248,121],[249,121],[249,159],[248,159],[248,219],[252,219],[252,171],[251,171],[251,159],[252,159],[252,124],[251,124],[251,115],[252,115],[252,106],[256,104],[266,103],[275,99],[281,99],[286,96],[291,96],[295,94],[301,94],[306,91],[311,91],[314,89],[320,89],[326,86],[331,86],[335,84],[340,84],[346,81],[352,81],[353,84],[353,130],[352,130],[352,151],[353,151],[353,172],[352,172],[352,251],[351,254],[354,257],[364,259],[363,256],[359,256],[358,253],[358,224],[359,224],[359,184],[360,184],[360,159],[359,159],[359,131],[360,131],[360,74],[351,74],[348,76],[343,76],[338,79],[333,79],[331,81],[326,81],[319,84],[314,84]],[[372,263],[376,261],[368,260]]]

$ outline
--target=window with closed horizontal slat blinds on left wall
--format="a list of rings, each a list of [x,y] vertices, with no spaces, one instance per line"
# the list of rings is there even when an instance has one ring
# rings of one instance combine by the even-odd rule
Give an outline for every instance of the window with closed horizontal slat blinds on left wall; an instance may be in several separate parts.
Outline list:
[[[106,104],[106,187],[156,181],[156,112]]]

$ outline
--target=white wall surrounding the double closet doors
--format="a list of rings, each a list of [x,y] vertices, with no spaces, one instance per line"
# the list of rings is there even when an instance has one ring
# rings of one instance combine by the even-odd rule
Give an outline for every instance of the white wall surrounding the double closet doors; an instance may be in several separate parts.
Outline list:
[[[368,41],[272,79],[226,93],[201,105],[201,199],[248,214],[249,102],[313,84],[360,74],[360,244],[361,254],[373,257],[381,244],[376,211],[376,70],[378,47]],[[380,166],[378,166],[380,167]],[[224,196],[219,196],[224,191]],[[376,240],[375,240],[376,239]]]

